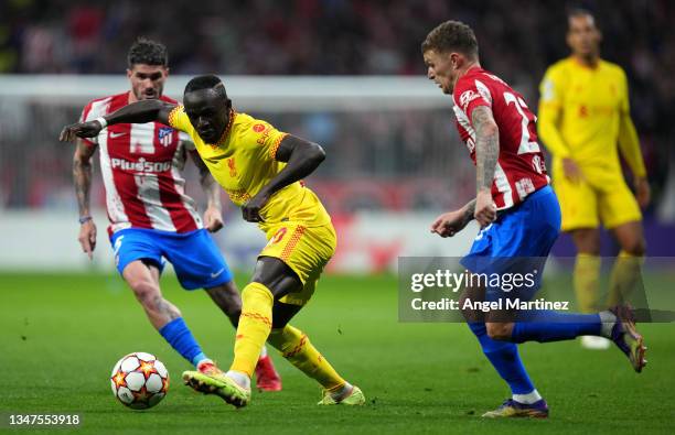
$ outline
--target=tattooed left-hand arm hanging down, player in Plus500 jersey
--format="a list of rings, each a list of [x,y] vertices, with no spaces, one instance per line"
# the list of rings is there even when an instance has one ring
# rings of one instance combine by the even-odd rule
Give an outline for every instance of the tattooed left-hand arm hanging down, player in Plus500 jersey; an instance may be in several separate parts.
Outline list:
[[[79,244],[82,250],[89,255],[94,255],[96,248],[96,224],[92,219],[89,210],[89,191],[92,188],[92,156],[96,151],[95,146],[87,146],[84,141],[78,140],[73,156],[73,182],[75,184],[75,195],[77,196],[77,207],[79,208]]]

